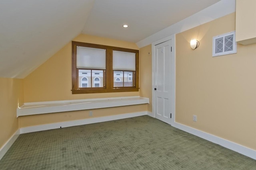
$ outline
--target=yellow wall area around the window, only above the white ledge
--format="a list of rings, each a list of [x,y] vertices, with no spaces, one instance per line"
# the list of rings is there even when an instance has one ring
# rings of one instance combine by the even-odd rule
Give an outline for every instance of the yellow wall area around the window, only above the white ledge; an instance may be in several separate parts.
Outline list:
[[[135,43],[118,41],[91,35],[79,35],[73,41],[138,49]],[[24,102],[44,102],[55,100],[75,100],[139,96],[139,92],[119,92],[100,94],[72,94],[72,46],[71,42],[24,78]]]

